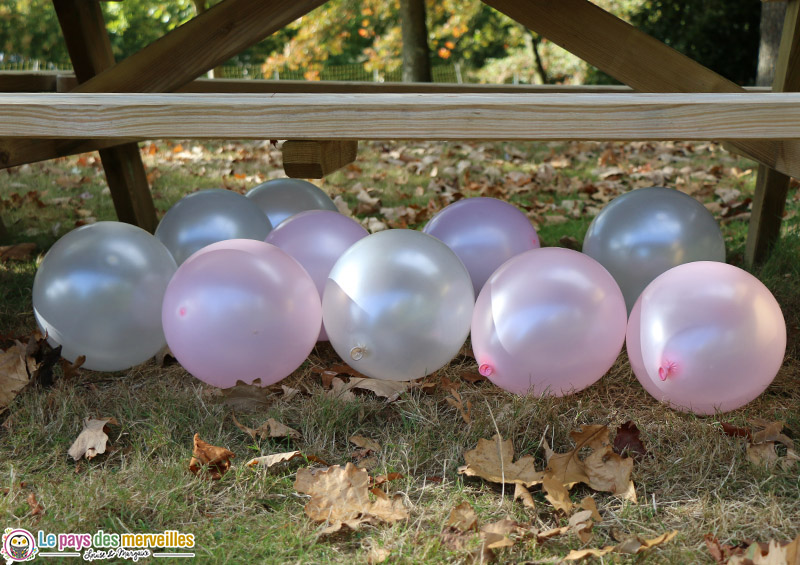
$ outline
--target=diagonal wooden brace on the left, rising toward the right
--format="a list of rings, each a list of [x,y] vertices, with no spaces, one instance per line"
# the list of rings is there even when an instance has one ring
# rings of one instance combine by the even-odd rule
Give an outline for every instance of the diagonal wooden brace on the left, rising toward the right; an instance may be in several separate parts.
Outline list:
[[[76,7],[94,4],[93,0],[71,1]],[[74,92],[171,92],[324,3],[223,0],[113,68],[99,72]],[[0,168],[72,155],[86,147],[87,142],[74,140],[0,140]]]

